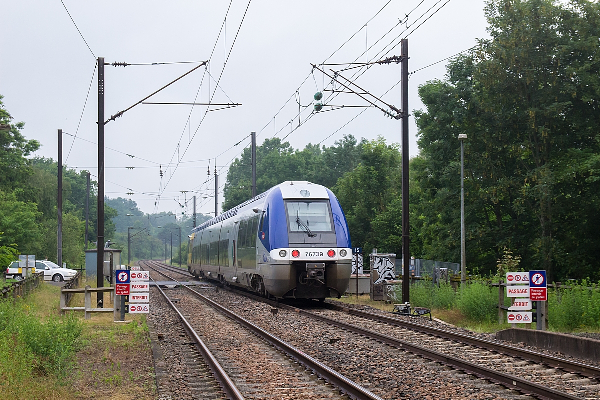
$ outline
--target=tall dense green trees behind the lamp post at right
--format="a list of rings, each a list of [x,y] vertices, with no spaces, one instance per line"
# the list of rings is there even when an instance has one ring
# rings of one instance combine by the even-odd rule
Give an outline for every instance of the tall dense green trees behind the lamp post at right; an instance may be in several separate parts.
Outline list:
[[[600,5],[493,0],[485,14],[493,40],[419,88],[424,226],[447,232],[426,252],[458,253],[464,133],[467,265],[491,272],[507,246],[550,279],[598,277]]]

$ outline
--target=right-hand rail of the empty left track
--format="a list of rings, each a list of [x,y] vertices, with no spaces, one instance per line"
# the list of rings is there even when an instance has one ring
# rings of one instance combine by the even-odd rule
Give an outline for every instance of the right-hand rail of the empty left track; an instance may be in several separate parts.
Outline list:
[[[146,266],[148,266],[151,269],[154,269],[155,272],[160,273],[161,275],[166,276],[169,279],[173,279],[172,276],[166,275],[165,273],[158,271],[157,269],[155,269],[155,267],[149,265],[148,262],[146,262]],[[207,303],[208,305],[227,315],[227,317],[238,321],[238,323],[242,324],[242,326],[246,327],[247,329],[250,329],[252,332],[256,333],[261,338],[265,339],[275,347],[279,348],[281,351],[283,351],[302,365],[307,366],[307,368],[310,368],[320,377],[337,386],[338,389],[340,389],[342,392],[344,392],[346,395],[349,395],[353,399],[382,400],[379,396],[374,395],[369,390],[365,389],[364,387],[360,386],[354,381],[344,377],[344,375],[338,374],[338,372],[335,372],[333,369],[329,368],[325,364],[319,362],[311,356],[308,356],[308,354],[303,353],[302,351],[298,350],[297,348],[293,347],[287,342],[284,342],[280,338],[277,338],[277,336],[271,335],[271,333],[251,323],[244,317],[235,314],[235,312],[231,311],[230,309],[227,309],[224,306],[215,303],[208,297],[203,296],[202,294],[198,293],[196,290],[191,289],[190,287],[187,287],[185,285],[182,285],[182,287],[190,291],[198,299],[202,300],[203,302]]]

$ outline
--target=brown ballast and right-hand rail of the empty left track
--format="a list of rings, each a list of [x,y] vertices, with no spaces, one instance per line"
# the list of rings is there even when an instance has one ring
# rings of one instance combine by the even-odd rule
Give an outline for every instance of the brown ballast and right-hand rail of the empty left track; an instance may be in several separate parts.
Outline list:
[[[176,280],[160,272],[159,268],[166,269],[163,266],[153,266],[151,261],[142,261],[140,264],[145,269]],[[170,291],[172,295],[179,297],[177,306],[162,289],[158,290],[182,320],[187,317],[190,321],[188,331],[194,329],[192,326],[202,327],[202,335],[210,338],[208,346],[205,345],[206,351],[211,348],[215,360],[221,360],[223,372],[227,371],[231,377],[229,380],[232,383],[235,381],[241,395],[247,398],[350,397],[358,400],[381,400],[323,363],[191,288]],[[245,329],[240,329],[239,325]],[[196,342],[201,342],[200,335],[195,333],[193,336]],[[315,377],[313,372],[320,378]],[[223,384],[225,378],[218,379],[221,386],[226,386]]]

